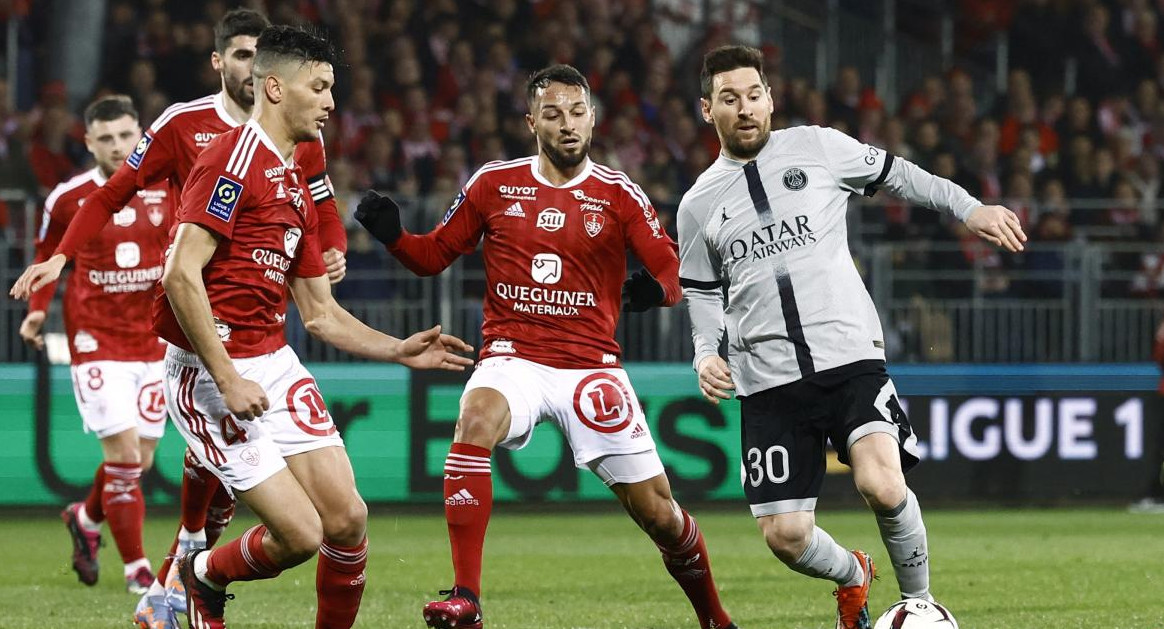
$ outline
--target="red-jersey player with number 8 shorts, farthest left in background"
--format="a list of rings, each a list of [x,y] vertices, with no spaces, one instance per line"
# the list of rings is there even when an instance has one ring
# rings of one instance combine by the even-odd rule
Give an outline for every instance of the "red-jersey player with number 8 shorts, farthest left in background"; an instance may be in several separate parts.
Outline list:
[[[129,98],[106,97],[85,109],[85,146],[97,167],[58,185],[44,204],[36,260],[61,241],[86,196],[129,155],[142,129]],[[109,523],[125,563],[126,588],[141,594],[154,581],[142,550],[146,503],[141,475],[154,462],[165,430],[162,354],[165,346],[149,326],[154,285],[162,276],[169,241],[169,189],[140,190],[77,252],[64,295],[65,331],[72,360],[73,394],[86,432],[101,441],[102,462],[84,502],[61,514],[73,540],[73,570],[97,584],[101,522]],[[41,328],[56,282],[34,292],[20,326],[26,342],[41,349]]]

